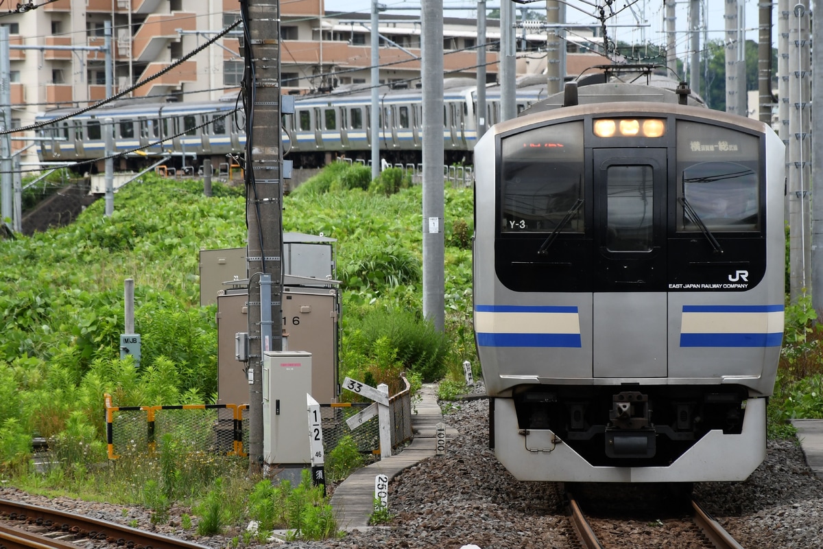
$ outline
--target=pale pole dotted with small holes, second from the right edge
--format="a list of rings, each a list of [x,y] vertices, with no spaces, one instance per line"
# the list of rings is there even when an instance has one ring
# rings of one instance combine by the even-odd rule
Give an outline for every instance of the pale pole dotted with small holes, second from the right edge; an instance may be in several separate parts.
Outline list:
[[[808,0],[788,16],[789,290],[793,302],[811,290],[811,74]]]

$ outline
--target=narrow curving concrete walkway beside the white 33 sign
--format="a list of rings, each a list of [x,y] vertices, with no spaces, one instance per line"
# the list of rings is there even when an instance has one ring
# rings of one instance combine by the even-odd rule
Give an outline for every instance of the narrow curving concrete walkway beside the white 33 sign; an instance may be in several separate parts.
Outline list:
[[[437,404],[436,390],[436,385],[423,385],[420,392],[421,400],[412,400],[412,444],[390,458],[358,469],[337,486],[332,494],[332,508],[337,513],[337,528],[351,531],[369,526],[369,518],[374,512],[374,477],[384,474],[391,482],[403,469],[435,455],[436,426],[443,421],[443,414]],[[456,430],[446,428],[447,440],[455,434]],[[389,500],[389,507],[391,503]]]

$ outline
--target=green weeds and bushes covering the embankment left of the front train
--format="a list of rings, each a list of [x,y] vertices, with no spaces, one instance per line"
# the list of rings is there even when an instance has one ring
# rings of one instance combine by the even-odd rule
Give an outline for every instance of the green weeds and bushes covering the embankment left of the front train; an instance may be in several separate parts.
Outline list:
[[[234,532],[249,543],[275,526],[240,533],[258,519],[246,505],[261,479],[248,462],[194,451],[179,435],[159,437],[153,454],[135,451],[109,461],[104,394],[114,406],[212,403],[216,398],[215,307],[199,306],[201,249],[243,246],[242,188],[147,176],[115,197],[114,215],[95,202],[71,226],[0,241],[0,478],[42,494],[64,494],[151,509],[157,523],[172,505],[193,510],[184,528]],[[368,169],[332,165],[286,197],[284,230],[337,239],[343,281],[341,377],[402,390],[462,371],[473,360],[471,328],[471,189],[446,191],[447,330],[421,314],[421,188],[402,170],[379,182]],[[460,221],[458,223],[458,221]],[[451,235],[451,227],[459,235]],[[454,243],[454,244],[451,244]],[[134,279],[142,361],[119,358],[123,281]],[[143,430],[145,431],[145,430]],[[32,441],[53,452],[34,467]],[[141,438],[143,437],[143,438]],[[135,448],[145,444],[136,432]],[[343,440],[328,453],[342,479],[360,466]],[[268,483],[268,482],[266,482]],[[292,537],[337,535],[328,502],[305,482],[272,486],[284,511],[277,528]],[[205,495],[204,495],[205,494]],[[279,511],[278,511],[279,512]]]

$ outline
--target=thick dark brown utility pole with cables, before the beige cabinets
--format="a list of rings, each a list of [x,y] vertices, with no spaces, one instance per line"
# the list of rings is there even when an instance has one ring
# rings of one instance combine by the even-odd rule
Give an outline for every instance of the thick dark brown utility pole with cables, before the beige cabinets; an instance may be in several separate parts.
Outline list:
[[[280,2],[242,0],[249,227],[249,472],[263,466],[263,352],[282,351]]]

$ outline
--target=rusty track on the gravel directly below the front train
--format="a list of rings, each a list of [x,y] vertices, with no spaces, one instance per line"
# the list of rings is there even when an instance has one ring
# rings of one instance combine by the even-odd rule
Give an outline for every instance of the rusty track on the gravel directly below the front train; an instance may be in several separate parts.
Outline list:
[[[580,508],[574,496],[566,493],[567,509],[571,528],[577,537],[577,544],[582,549],[611,549],[611,547],[643,547],[642,539],[643,533],[635,533],[629,539],[628,535],[621,532],[615,532],[616,519],[588,519]],[[655,528],[664,530],[671,528],[672,532],[669,537],[672,539],[667,542],[667,547],[677,549],[679,547],[714,547],[714,549],[743,549],[734,538],[723,529],[720,524],[714,520],[695,500],[690,501],[691,514],[688,517],[690,523],[685,523],[686,519],[679,519],[673,523],[667,524],[658,520],[658,523],[653,524]],[[635,528],[637,530],[638,528]],[[641,531],[644,528],[639,528]],[[650,528],[644,530],[651,532]],[[601,533],[601,535],[598,535]],[[653,533],[654,547],[659,547],[661,532]],[[602,542],[602,540],[610,540],[609,542]],[[652,543],[652,540],[649,540]]]

